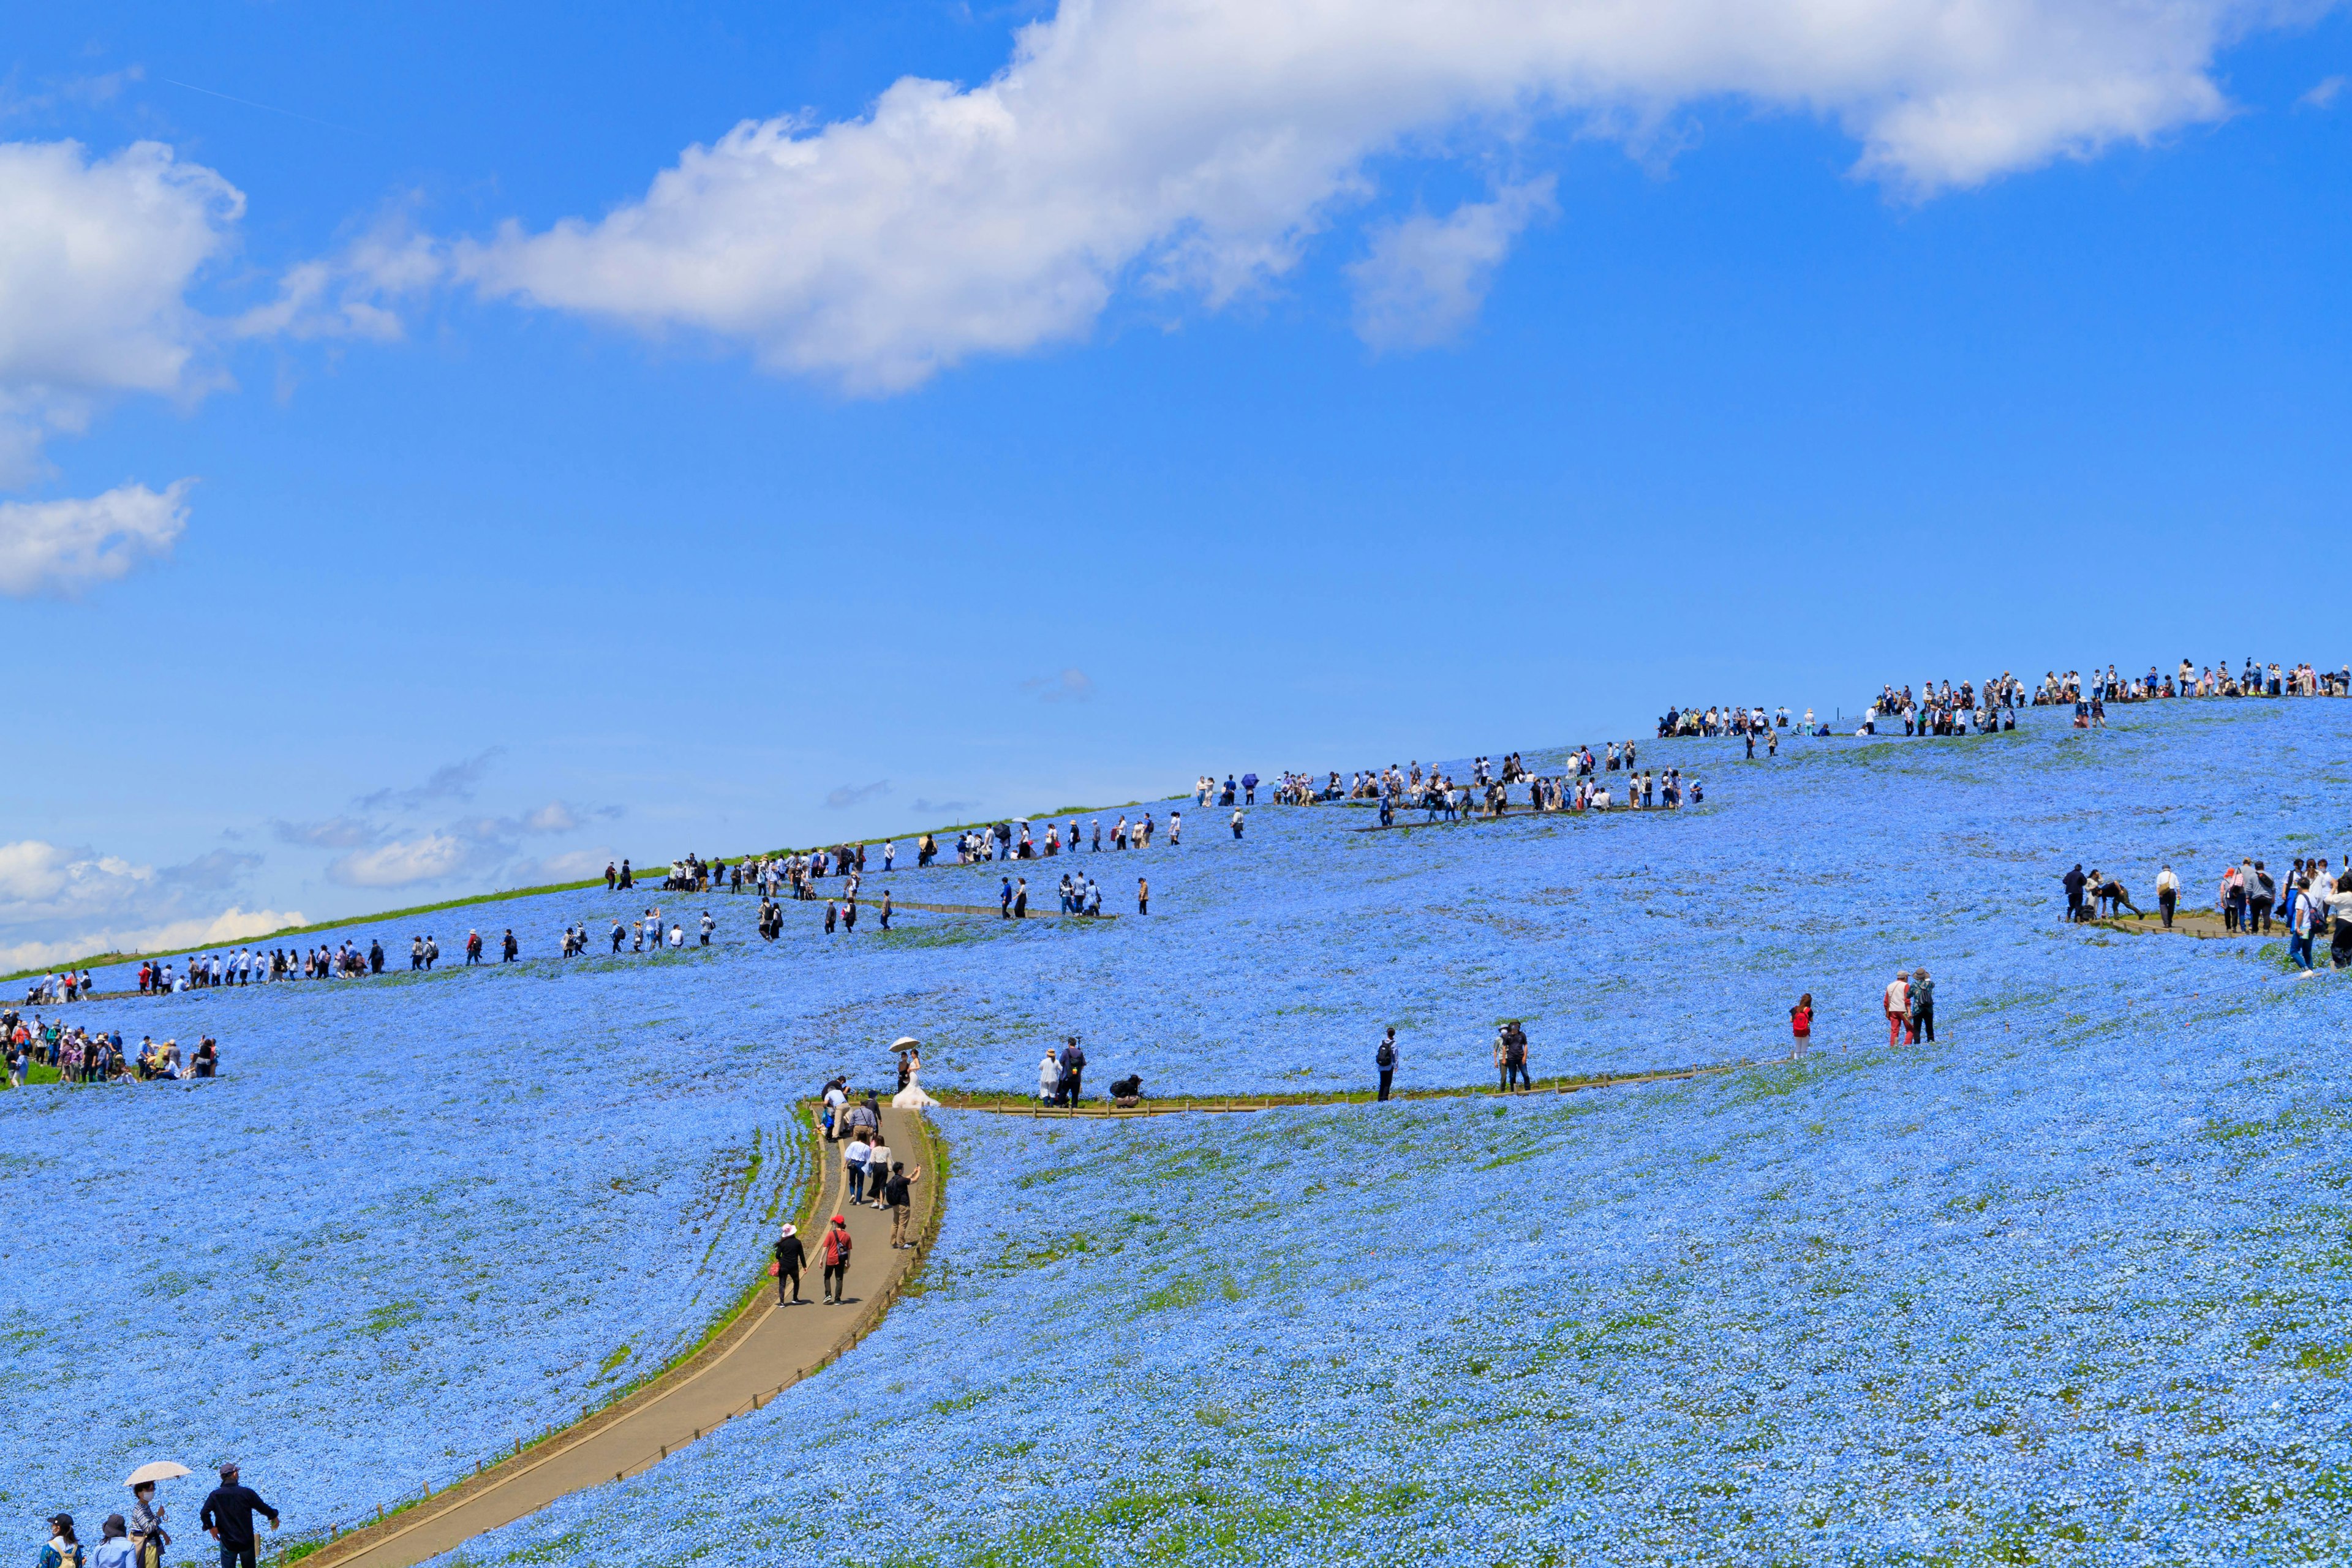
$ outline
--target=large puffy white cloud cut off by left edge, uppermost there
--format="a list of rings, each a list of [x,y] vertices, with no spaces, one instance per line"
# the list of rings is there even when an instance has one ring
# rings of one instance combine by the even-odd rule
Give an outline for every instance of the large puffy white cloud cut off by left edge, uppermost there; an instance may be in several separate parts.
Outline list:
[[[235,186],[158,141],[96,160],[75,141],[0,141],[0,484],[111,395],[216,383],[188,287],[242,212]]]

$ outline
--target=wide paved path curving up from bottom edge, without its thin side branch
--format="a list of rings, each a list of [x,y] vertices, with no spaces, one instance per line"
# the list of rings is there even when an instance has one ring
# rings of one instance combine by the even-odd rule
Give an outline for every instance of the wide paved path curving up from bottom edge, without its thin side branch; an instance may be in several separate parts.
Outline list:
[[[894,1157],[922,1166],[915,1182],[910,1234],[929,1239],[938,1213],[936,1157],[929,1128],[920,1117],[882,1112],[882,1135]],[[840,1145],[818,1143],[826,1159],[823,1192],[816,1213],[844,1213]],[[727,1333],[699,1356],[673,1368],[628,1399],[557,1432],[520,1455],[492,1465],[470,1481],[440,1493],[414,1509],[388,1516],[362,1530],[339,1535],[306,1563],[315,1568],[409,1568],[428,1556],[534,1514],[567,1493],[652,1469],[670,1453],[694,1443],[736,1415],[764,1406],[809,1373],[828,1366],[856,1345],[880,1321],[898,1286],[922,1258],[922,1248],[891,1251],[889,1215],[880,1208],[849,1208],[854,1239],[849,1295],[840,1307],[821,1305],[823,1265],[816,1260],[816,1234],[809,1225],[809,1269],[804,1307],[779,1307],[774,1286],[760,1305],[739,1316]]]

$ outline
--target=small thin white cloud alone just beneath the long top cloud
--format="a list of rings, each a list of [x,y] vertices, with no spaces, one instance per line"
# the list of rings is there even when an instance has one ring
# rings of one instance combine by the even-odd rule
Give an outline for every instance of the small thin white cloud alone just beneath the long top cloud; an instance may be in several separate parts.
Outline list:
[[[1371,230],[1371,254],[1348,268],[1355,331],[1374,348],[1430,348],[1461,334],[1486,303],[1494,268],[1519,230],[1555,212],[1552,181],[1505,186],[1451,216],[1416,212]]]

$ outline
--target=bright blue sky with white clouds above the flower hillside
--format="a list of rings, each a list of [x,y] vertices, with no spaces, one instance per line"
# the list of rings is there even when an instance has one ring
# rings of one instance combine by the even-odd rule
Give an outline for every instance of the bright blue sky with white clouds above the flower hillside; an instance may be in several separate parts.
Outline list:
[[[2333,7],[129,5],[0,49],[0,959],[2347,656],[2296,611],[2352,477]]]

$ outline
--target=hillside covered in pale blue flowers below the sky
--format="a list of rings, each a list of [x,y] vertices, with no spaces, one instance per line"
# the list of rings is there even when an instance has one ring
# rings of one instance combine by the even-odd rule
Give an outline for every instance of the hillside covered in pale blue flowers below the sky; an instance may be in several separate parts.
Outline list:
[[[2190,900],[2239,856],[2343,867],[2352,703],[2063,724],[1661,741],[1708,785],[1672,813],[1261,806],[1237,842],[1188,811],[1181,846],[1077,858],[1108,922],[828,938],[795,903],[764,943],[750,898],[597,889],[353,926],[395,954],[513,926],[520,964],[78,1006],[216,1034],[226,1077],[0,1095],[0,1500],[106,1512],[139,1458],[235,1455],[301,1528],[470,1472],[736,1298],[807,1157],[793,1103],[882,1081],[898,1034],[934,1088],[1023,1091],[1075,1032],[1096,1084],[1242,1093],[1362,1086],[1383,1025],[1402,1081],[1491,1081],[1522,1018],[1538,1074],[1755,1065],[946,1112],[946,1229],[875,1338],[466,1556],[2340,1556],[2347,980],[2277,936],[2065,926],[2058,877],[2152,907],[2166,863]],[[1023,865],[1033,905],[1070,865]],[[993,905],[1004,870],[868,900]],[[548,957],[649,903],[717,943]],[[1922,964],[1940,1039],[1889,1048],[1879,992]]]

